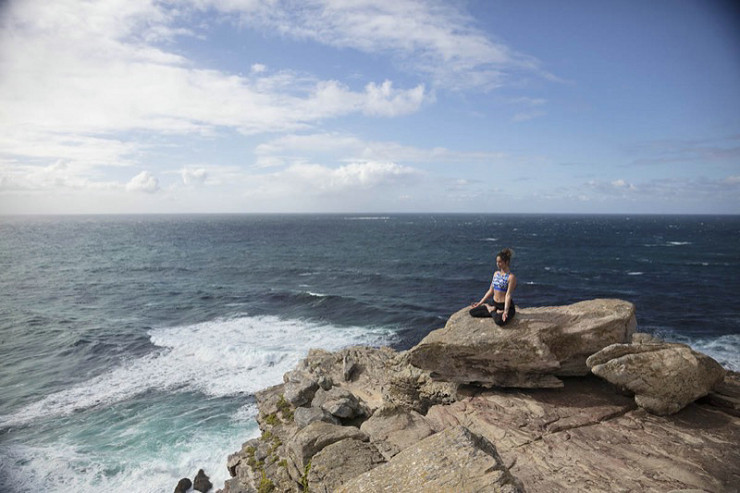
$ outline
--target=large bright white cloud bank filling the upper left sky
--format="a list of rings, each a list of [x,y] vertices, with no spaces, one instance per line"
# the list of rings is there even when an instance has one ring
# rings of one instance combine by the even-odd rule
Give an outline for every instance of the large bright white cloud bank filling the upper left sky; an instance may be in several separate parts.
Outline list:
[[[290,71],[268,73],[262,64],[248,76],[198,68],[152,44],[187,32],[173,27],[180,15],[154,0],[6,5],[0,156],[132,165],[143,144],[123,140],[123,132],[152,139],[221,128],[297,130],[351,113],[408,114],[428,98],[421,85],[397,89],[386,81],[352,90]]]

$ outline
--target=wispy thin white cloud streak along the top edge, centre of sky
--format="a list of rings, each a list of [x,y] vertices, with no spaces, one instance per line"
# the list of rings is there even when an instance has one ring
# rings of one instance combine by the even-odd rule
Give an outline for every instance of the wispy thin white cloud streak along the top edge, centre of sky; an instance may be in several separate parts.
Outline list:
[[[402,66],[453,89],[491,89],[521,74],[554,79],[534,57],[489,39],[450,2],[198,0],[195,5],[241,13],[246,24],[296,39],[390,53]]]

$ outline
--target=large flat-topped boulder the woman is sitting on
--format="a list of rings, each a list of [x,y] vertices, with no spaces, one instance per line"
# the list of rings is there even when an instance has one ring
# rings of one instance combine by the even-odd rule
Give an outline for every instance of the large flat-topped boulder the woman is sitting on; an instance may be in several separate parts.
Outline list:
[[[624,343],[636,327],[632,303],[615,299],[521,308],[505,327],[464,308],[408,352],[410,363],[448,382],[554,388],[587,375],[586,358]]]

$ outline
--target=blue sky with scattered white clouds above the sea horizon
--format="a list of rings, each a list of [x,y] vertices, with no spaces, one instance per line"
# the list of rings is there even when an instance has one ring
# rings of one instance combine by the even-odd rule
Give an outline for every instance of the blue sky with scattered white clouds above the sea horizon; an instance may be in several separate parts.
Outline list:
[[[719,0],[0,0],[0,214],[740,214]]]

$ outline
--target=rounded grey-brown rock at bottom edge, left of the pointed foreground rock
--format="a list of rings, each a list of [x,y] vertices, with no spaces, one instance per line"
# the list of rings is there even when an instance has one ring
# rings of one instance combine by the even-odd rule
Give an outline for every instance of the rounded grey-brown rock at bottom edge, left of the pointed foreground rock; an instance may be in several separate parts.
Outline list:
[[[311,459],[308,491],[331,493],[336,488],[385,462],[374,445],[347,438],[325,447]]]

